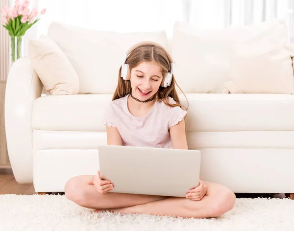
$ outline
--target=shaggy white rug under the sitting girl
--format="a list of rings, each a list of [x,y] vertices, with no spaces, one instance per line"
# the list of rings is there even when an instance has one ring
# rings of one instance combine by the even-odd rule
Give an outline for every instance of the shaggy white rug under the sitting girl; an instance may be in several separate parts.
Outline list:
[[[0,231],[293,231],[294,200],[237,199],[220,218],[94,213],[64,195],[0,195]]]

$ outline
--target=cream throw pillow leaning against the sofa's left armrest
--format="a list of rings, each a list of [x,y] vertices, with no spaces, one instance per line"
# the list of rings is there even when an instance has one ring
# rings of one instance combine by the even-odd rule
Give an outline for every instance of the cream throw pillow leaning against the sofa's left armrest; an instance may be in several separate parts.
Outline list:
[[[49,37],[28,41],[28,56],[49,94],[77,94],[78,76],[68,58]]]

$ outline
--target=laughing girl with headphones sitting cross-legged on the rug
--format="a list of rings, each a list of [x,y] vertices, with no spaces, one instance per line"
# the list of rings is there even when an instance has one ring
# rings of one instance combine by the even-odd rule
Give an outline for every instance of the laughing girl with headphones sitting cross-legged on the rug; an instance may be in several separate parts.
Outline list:
[[[188,149],[185,115],[175,90],[172,58],[151,42],[131,47],[104,123],[109,145]],[[175,169],[176,170],[176,169]],[[227,187],[203,182],[186,198],[108,193],[115,185],[97,176],[73,177],[65,195],[76,204],[121,213],[149,213],[187,218],[218,217],[235,205]]]

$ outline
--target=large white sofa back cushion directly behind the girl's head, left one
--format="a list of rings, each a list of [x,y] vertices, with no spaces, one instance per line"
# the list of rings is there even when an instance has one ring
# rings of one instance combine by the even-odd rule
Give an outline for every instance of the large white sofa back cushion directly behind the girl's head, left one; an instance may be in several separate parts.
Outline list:
[[[114,93],[126,51],[153,41],[167,47],[165,31],[118,33],[53,22],[48,36],[61,47],[79,77],[79,93]]]

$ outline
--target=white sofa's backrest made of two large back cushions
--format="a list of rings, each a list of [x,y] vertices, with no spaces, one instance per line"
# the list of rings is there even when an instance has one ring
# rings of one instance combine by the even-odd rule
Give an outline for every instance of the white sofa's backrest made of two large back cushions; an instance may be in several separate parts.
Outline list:
[[[167,38],[165,31],[117,33],[53,22],[48,36],[72,63],[79,77],[80,94],[113,93],[126,50],[140,41],[154,41],[168,49],[174,62],[174,76],[185,93],[223,91],[224,83],[230,80],[232,43],[288,41],[284,20],[205,31],[176,22],[172,38]]]

